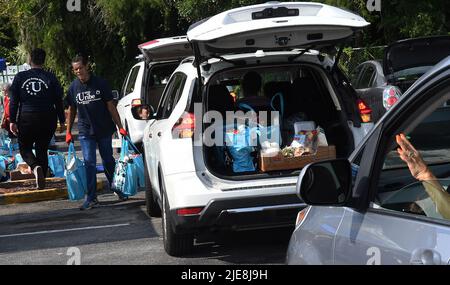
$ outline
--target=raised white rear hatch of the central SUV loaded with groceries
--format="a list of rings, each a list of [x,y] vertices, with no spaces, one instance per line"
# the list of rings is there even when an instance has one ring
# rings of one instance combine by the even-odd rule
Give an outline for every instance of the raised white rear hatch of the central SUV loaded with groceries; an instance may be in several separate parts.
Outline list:
[[[368,26],[362,17],[319,3],[269,2],[241,7],[196,23],[187,33],[197,62],[257,50],[320,49]]]

